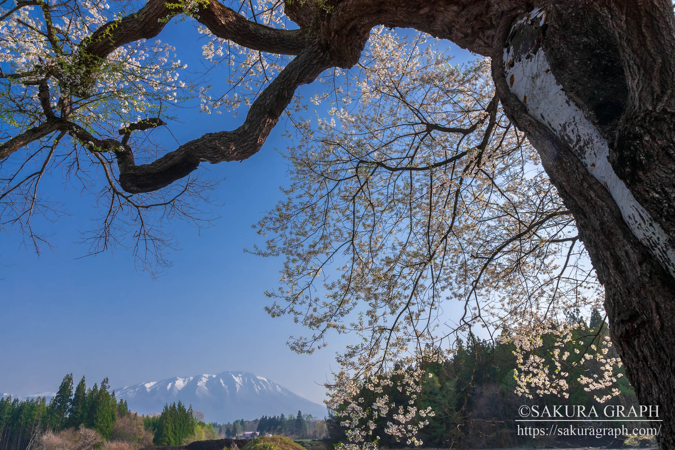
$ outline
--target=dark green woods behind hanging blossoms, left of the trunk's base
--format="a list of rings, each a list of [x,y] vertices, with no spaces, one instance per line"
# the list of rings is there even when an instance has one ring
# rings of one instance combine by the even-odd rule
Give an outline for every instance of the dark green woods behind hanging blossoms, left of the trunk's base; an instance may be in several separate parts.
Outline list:
[[[554,347],[553,337],[544,336],[544,342],[550,345],[543,345],[541,349],[535,351],[537,356],[547,361],[551,370],[556,369],[551,360],[556,348],[561,352],[568,351],[570,361],[576,358],[578,364],[570,364],[570,367],[565,369],[569,372],[569,376],[566,377],[570,383],[568,398],[545,393],[539,396],[534,391],[533,399],[517,395],[514,393],[516,390],[514,370],[517,368],[514,345],[499,340],[483,341],[475,336],[469,336],[467,342],[458,343],[454,358],[444,362],[430,362],[424,368],[426,373],[423,376],[424,383],[418,406],[421,409],[431,406],[435,416],[428,418],[429,424],[419,432],[418,439],[423,441],[425,447],[446,449],[529,446],[532,445],[532,437],[518,436],[518,424],[514,422],[520,418],[518,413],[520,405],[539,405],[540,411],[544,405],[549,407],[584,405],[587,411],[591,405],[595,405],[599,414],[602,414],[601,411],[608,404],[628,407],[638,404],[625,376],[617,378],[616,387],[620,390],[620,395],[612,397],[605,403],[595,401],[593,397],[598,395],[597,392],[585,390],[587,385],[581,384],[579,378],[583,375],[595,379],[596,375],[601,376],[603,368],[595,360],[585,360],[584,352],[594,342],[597,344],[597,335],[608,333],[607,325],[597,311],[593,312],[589,324],[583,322],[578,310],[572,311],[568,320],[580,324],[569,343],[562,348]],[[578,353],[575,350],[578,350]],[[618,355],[614,348],[607,348],[607,357],[616,356]],[[623,370],[620,369],[619,372],[622,373]],[[428,374],[431,374],[431,377]],[[383,447],[406,447],[405,441],[398,442],[384,432],[387,422],[395,422],[393,415],[398,412],[398,405],[408,403],[404,393],[396,388],[400,378],[401,376],[392,377],[393,386],[383,388],[383,393],[389,396],[389,401],[394,401],[397,406],[391,408],[387,416],[375,420],[377,426],[373,430],[373,437],[379,436],[379,445]],[[599,393],[599,397],[608,392],[609,389],[607,392]],[[372,391],[367,389],[362,389],[354,399],[359,397],[362,397],[363,403],[367,405],[373,404],[375,400]],[[331,443],[347,441],[339,418],[331,414],[327,419],[327,426]],[[552,442],[545,443],[544,439],[538,439],[538,443],[553,445]]]

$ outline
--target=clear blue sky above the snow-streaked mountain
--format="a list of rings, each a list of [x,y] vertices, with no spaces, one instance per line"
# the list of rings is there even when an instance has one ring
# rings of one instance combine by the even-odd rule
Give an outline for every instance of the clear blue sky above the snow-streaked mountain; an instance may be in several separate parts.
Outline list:
[[[159,36],[177,47],[178,57],[196,66],[201,42],[192,26],[171,24]],[[458,51],[456,62],[470,58]],[[217,82],[217,80],[213,80]],[[314,92],[318,83],[303,88]],[[183,143],[206,132],[235,128],[232,115],[179,111],[184,123],[169,124]],[[243,252],[261,242],[251,225],[281,198],[288,182],[283,151],[284,123],[263,149],[242,163],[209,167],[225,177],[216,192],[223,203],[211,229],[176,223],[180,250],[173,266],[153,280],[136,273],[132,254],[80,258],[75,244],[87,229],[93,198],[63,192],[50,181],[53,198],[66,200],[72,215],[49,225],[55,250],[40,258],[21,246],[18,235],[0,236],[0,392],[25,395],[55,391],[66,373],[83,374],[88,384],[108,376],[112,387],[223,370],[246,370],[321,402],[320,385],[336,369],[334,352],[344,338],[311,356],[286,347],[288,335],[304,330],[290,318],[269,318],[263,292],[277,287],[282,261]],[[169,148],[171,144],[167,144]],[[46,226],[46,225],[45,225]]]

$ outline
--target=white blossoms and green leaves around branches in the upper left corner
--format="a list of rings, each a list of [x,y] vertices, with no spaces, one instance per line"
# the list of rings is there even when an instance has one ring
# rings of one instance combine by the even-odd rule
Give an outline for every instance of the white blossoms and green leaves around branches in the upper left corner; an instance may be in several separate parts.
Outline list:
[[[41,113],[35,102],[28,109],[12,106],[16,99],[35,96],[41,80],[47,80],[50,103],[68,119],[101,132],[114,133],[142,117],[166,117],[171,104],[191,96],[188,84],[180,81],[186,65],[160,40],[117,47],[101,61],[83,53],[92,32],[105,24],[114,27],[133,3],[45,1],[9,14],[0,22],[5,115],[18,126],[34,122]]]

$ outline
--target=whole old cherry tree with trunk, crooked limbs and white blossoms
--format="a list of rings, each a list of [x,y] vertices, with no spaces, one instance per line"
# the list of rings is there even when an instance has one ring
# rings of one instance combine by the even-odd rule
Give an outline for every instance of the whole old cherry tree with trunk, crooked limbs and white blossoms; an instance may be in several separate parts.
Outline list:
[[[662,405],[659,443],[674,447],[672,3],[7,3],[5,226],[38,245],[31,217],[51,207],[38,183],[60,164],[80,183],[103,174],[94,250],[114,244],[124,220],[140,226],[140,248],[159,249],[167,242],[146,210],[159,208],[160,224],[198,220],[194,200],[209,188],[198,167],[255,154],[298,86],[332,79],[313,98],[332,102],[330,117],[303,118],[298,103],[287,111],[300,136],[288,152],[297,176],[291,199],[261,223],[276,237],[260,251],[288,255],[276,295],[290,304],[269,310],[315,331],[294,349],[311,351],[348,320],[365,341],[343,362],[367,378],[406,351],[434,357],[471,327],[535,336],[564,308],[594,305],[600,289],[626,374],[642,403]],[[175,16],[210,35],[208,59],[236,67],[232,88],[182,84],[181,63],[154,41]],[[423,34],[403,41],[387,28]],[[455,69],[427,36],[488,59]],[[239,128],[174,150],[136,137],[167,123],[182,96],[205,111],[248,112]],[[316,298],[331,261],[340,275]],[[452,299],[464,311],[443,331],[438,311]],[[410,414],[401,410],[401,423]]]

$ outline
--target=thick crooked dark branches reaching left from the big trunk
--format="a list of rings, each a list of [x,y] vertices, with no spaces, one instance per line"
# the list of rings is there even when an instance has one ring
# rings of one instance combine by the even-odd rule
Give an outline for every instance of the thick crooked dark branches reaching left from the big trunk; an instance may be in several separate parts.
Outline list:
[[[356,63],[372,26],[413,26],[431,34],[450,37],[464,47],[488,54],[485,43],[491,43],[492,35],[489,33],[495,28],[494,24],[479,27],[481,31],[470,30],[476,29],[477,20],[493,20],[489,18],[495,16],[493,13],[499,8],[520,6],[520,1],[498,0],[454,0],[433,10],[428,8],[426,2],[419,0],[346,0],[336,3],[331,10],[324,8],[313,11],[313,42],[306,38],[310,36],[309,31],[277,30],[250,22],[217,1],[211,1],[200,9],[198,21],[216,36],[259,51],[298,54],[254,101],[246,120],[236,130],[205,134],[153,163],[136,165],[133,150],[127,144],[131,129],[120,131],[124,135],[121,142],[114,139],[98,140],[75,123],[55,119],[53,113],[49,114],[51,109],[45,108],[48,118],[56,121],[50,126],[68,132],[90,151],[114,151],[121,187],[132,193],[151,192],[188,175],[201,161],[241,161],[256,153],[277,123],[279,115],[290,103],[295,89],[300,84],[311,82],[328,67],[350,67]],[[364,11],[367,12],[364,14]],[[107,57],[121,45],[156,36],[167,22],[165,19],[177,12],[167,6],[164,0],[148,0],[138,12],[101,26],[84,43],[83,53],[86,57],[94,57],[86,61],[86,65]],[[429,14],[437,19],[431,20]],[[468,34],[461,38],[456,35],[456,30],[461,28],[460,22],[469,27]],[[437,28],[439,24],[443,24],[442,30]],[[41,96],[44,95],[45,92],[42,92]],[[45,99],[43,107],[49,107]],[[18,142],[23,141],[13,140],[10,146],[14,147]],[[9,151],[10,146],[4,147]]]

